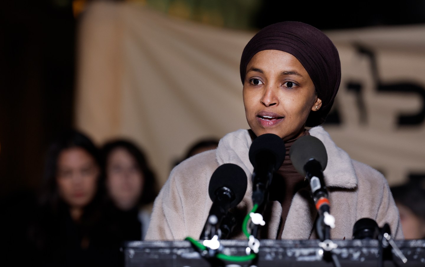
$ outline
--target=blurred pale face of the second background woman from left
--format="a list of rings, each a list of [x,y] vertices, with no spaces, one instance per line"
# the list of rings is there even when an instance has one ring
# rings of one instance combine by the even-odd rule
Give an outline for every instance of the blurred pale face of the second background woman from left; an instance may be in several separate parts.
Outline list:
[[[133,208],[142,195],[144,177],[136,159],[124,148],[115,148],[106,162],[106,186],[115,205]]]

